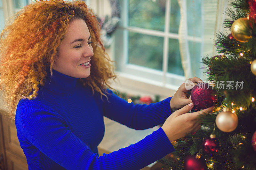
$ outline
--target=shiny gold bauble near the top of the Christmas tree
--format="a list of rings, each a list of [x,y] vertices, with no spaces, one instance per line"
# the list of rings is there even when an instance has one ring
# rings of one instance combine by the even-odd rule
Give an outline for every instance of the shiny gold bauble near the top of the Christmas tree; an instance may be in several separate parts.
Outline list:
[[[233,37],[240,42],[247,42],[252,38],[252,29],[248,18],[239,18],[231,26]]]

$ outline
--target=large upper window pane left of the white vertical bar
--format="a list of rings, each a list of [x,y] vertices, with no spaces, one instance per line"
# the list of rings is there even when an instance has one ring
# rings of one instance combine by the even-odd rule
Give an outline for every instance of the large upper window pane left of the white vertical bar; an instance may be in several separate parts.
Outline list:
[[[129,0],[129,25],[164,31],[165,0]]]

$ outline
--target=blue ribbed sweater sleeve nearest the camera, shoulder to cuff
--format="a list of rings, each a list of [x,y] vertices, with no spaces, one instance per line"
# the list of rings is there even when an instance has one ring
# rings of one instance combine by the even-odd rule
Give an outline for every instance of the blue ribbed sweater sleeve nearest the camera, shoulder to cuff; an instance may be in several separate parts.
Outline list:
[[[99,156],[68,129],[65,119],[57,112],[30,109],[16,112],[15,118],[20,135],[68,170],[141,169],[174,151],[159,128],[135,144]]]

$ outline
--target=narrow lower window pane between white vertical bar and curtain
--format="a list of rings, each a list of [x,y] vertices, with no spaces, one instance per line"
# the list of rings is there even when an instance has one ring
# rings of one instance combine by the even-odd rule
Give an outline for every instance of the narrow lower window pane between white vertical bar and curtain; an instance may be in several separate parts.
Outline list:
[[[184,76],[181,65],[179,41],[175,39],[169,39],[168,72]]]

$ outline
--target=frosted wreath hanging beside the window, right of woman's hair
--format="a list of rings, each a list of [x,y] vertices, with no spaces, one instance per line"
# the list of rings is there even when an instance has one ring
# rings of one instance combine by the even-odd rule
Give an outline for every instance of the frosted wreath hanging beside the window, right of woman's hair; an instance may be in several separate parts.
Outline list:
[[[116,31],[120,23],[121,8],[118,0],[109,0],[111,6],[111,17],[106,15],[103,18],[97,16],[101,26],[101,39],[105,48],[109,48],[113,42],[111,35]]]

